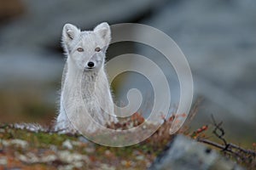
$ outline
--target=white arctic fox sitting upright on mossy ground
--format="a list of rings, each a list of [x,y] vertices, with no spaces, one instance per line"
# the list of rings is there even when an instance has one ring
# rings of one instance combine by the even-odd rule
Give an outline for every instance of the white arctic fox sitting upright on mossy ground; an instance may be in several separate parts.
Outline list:
[[[67,64],[62,77],[60,112],[55,130],[93,133],[97,130],[96,124],[105,126],[117,122],[104,70],[110,40],[111,31],[106,22],[93,31],[80,31],[71,24],[63,27],[62,46],[67,54]]]

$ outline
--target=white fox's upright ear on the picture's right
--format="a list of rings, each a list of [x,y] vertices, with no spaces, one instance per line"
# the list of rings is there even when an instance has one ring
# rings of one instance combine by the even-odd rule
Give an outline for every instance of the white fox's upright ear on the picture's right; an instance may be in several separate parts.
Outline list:
[[[99,35],[102,40],[105,42],[106,46],[111,41],[111,31],[110,31],[110,26],[108,25],[107,22],[102,22],[102,24],[98,25],[95,27],[93,30],[97,35]]]

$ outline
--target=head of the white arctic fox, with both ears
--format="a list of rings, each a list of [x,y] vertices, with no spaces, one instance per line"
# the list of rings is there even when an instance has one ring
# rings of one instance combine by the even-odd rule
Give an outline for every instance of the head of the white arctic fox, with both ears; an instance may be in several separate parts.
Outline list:
[[[81,71],[99,71],[103,67],[110,40],[107,22],[96,26],[93,31],[80,31],[71,24],[66,24],[62,31],[67,59]]]

